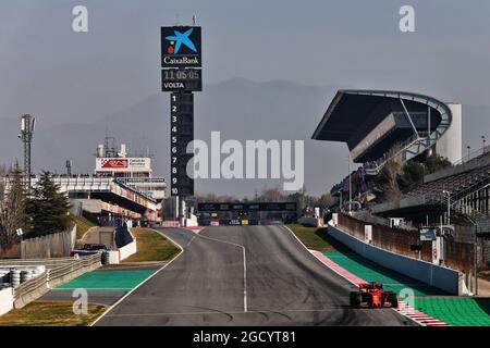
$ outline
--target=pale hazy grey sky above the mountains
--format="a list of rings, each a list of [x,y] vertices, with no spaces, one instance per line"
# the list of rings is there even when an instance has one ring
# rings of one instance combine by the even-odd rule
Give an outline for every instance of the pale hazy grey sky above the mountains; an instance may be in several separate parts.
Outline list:
[[[89,33],[72,30],[77,4]],[[416,33],[399,30],[403,4],[415,7]],[[205,85],[390,88],[490,108],[488,0],[0,0],[0,119],[87,123],[158,94],[159,27],[193,14]]]

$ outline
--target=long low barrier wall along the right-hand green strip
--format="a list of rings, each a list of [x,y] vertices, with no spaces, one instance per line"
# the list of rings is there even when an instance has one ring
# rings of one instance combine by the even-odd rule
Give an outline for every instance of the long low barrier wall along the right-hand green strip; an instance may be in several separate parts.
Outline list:
[[[455,270],[401,256],[364,243],[339,227],[329,225],[329,234],[364,258],[453,295],[461,293],[463,274]]]

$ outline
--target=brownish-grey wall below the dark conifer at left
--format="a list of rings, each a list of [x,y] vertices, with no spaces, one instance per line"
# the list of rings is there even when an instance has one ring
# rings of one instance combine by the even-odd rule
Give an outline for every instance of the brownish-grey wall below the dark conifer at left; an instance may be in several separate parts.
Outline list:
[[[69,257],[75,248],[76,225],[62,233],[26,239],[21,245],[22,259],[44,259]]]

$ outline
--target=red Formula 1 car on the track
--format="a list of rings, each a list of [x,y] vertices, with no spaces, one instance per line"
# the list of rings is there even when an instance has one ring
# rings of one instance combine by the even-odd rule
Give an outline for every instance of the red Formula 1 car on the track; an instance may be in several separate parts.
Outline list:
[[[399,299],[393,291],[383,290],[381,283],[360,283],[357,291],[351,291],[351,307],[360,308],[399,307]]]

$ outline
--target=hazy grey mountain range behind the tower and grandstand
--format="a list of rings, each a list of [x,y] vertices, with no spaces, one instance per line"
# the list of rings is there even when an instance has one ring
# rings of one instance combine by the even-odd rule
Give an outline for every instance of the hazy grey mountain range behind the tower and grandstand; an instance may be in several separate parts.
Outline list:
[[[321,195],[347,174],[347,148],[343,144],[311,140],[311,135],[336,90],[345,87],[316,87],[279,80],[255,83],[244,78],[205,86],[195,97],[195,138],[209,140],[211,132],[219,130],[221,141],[304,140],[305,186],[309,194]],[[479,138],[478,132],[489,128],[488,111],[488,107],[464,107],[464,120],[468,120],[464,138]],[[0,163],[8,165],[15,159],[22,163],[22,144],[17,134],[19,120],[2,120]],[[97,145],[103,142],[106,134],[114,137],[118,144],[126,144],[130,152],[154,156],[154,175],[169,177],[168,94],[148,96],[96,122],[77,120],[44,124],[42,117],[38,117],[33,142],[34,171],[64,173],[65,160],[70,159],[73,172],[90,173]],[[281,183],[275,179],[197,179],[196,191],[253,197],[256,190]]]

